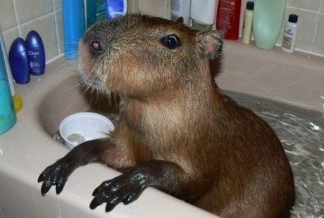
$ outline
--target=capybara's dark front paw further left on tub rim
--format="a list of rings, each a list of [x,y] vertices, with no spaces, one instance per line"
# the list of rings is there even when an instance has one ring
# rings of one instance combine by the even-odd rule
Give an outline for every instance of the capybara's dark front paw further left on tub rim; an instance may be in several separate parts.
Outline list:
[[[61,193],[72,172],[72,167],[68,162],[63,161],[62,159],[57,160],[53,165],[46,167],[38,177],[38,182],[43,182],[41,188],[42,195],[46,195],[51,186],[56,186],[57,194]]]

